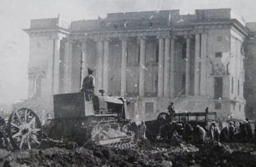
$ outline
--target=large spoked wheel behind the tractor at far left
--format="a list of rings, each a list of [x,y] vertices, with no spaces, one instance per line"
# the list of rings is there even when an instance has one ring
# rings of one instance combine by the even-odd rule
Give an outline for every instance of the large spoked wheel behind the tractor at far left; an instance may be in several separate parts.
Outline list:
[[[42,140],[42,125],[30,109],[21,108],[12,112],[8,121],[8,136],[16,149],[38,148]]]

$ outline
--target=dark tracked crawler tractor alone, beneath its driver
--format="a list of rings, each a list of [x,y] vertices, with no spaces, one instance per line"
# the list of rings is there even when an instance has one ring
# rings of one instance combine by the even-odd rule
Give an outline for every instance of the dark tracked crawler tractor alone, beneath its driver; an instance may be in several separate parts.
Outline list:
[[[102,93],[88,102],[83,92],[56,94],[54,117],[44,129],[52,139],[96,145],[134,140],[136,125],[127,119],[127,101],[122,97]]]

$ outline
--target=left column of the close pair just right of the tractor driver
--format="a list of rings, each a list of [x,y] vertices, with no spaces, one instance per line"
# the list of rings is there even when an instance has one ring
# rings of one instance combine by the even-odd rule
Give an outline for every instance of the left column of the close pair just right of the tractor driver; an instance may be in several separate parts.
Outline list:
[[[99,93],[99,90],[103,88],[103,40],[97,40],[97,51],[96,51],[96,93]]]

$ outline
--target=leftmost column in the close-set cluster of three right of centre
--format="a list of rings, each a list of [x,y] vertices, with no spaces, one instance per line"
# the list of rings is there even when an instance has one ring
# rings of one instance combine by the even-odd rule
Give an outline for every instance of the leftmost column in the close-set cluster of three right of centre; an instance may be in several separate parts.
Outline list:
[[[159,39],[158,53],[158,97],[163,97],[163,65],[164,65],[164,39],[162,35],[157,35]]]

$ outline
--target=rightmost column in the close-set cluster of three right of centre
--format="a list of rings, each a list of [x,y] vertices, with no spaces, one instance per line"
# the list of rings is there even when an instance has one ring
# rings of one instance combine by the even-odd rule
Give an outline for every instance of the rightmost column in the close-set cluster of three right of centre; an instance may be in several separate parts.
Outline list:
[[[172,36],[172,38],[170,39],[170,98],[173,98],[175,96],[175,39],[175,36]]]

